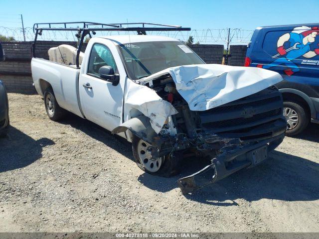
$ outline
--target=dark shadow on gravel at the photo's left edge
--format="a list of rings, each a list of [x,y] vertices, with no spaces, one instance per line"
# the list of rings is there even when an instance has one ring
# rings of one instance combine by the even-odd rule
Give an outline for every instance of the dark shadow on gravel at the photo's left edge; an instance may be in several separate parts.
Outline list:
[[[8,127],[6,137],[0,137],[0,173],[23,168],[42,157],[42,148],[54,142],[48,138],[34,140],[15,127]]]

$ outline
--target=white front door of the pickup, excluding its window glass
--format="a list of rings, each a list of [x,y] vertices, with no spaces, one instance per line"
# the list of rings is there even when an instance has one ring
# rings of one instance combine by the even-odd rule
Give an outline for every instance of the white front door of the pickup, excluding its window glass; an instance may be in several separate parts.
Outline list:
[[[83,114],[87,119],[112,130],[122,123],[127,76],[114,43],[104,38],[92,38],[87,45],[87,49],[91,49],[94,43],[106,45],[110,49],[118,68],[120,83],[113,86],[111,82],[87,74],[90,57],[90,50],[88,50],[88,53],[84,55],[79,76],[79,98]],[[92,86],[92,89],[83,87],[83,84],[87,83]]]

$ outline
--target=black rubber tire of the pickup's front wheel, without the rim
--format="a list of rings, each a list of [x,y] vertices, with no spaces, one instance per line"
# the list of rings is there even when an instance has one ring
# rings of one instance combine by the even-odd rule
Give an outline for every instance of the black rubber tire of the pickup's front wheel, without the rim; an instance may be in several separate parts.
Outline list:
[[[145,171],[149,174],[162,176],[162,177],[170,177],[170,176],[173,176],[173,175],[176,175],[177,173],[179,173],[179,169],[180,169],[179,161],[181,159],[181,155],[178,152],[171,153],[169,155],[165,155],[162,158],[163,161],[161,163],[160,169],[157,172],[150,172],[149,170],[147,170],[144,167],[143,163],[141,162],[141,159],[140,159],[139,154],[138,154],[138,144],[139,144],[140,140],[142,140],[142,139],[140,139],[137,136],[134,136],[134,138],[132,140],[133,156],[134,156],[136,164],[138,165],[138,167],[140,169],[142,169],[143,171]]]

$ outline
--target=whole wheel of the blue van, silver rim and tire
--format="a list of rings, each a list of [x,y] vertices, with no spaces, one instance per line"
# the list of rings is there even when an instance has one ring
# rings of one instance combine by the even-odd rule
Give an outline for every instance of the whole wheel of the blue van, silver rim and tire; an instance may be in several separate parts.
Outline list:
[[[287,136],[301,133],[310,121],[308,111],[299,102],[284,102],[284,116],[287,120]]]

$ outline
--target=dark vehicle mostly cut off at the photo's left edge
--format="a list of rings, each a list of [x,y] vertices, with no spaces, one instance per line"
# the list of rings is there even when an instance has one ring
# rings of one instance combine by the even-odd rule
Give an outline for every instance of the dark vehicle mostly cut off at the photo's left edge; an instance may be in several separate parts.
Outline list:
[[[4,51],[0,43],[0,62],[4,61]],[[0,80],[0,136],[6,134],[6,128],[9,125],[9,105],[5,87]]]

